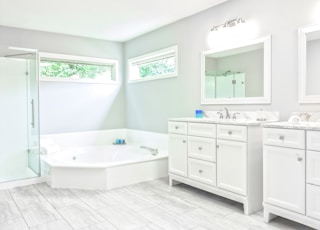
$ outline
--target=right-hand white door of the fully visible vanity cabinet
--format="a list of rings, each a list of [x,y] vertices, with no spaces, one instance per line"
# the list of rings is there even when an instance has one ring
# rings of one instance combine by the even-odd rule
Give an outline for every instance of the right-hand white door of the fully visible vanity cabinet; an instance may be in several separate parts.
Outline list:
[[[247,143],[217,140],[217,186],[247,194]]]

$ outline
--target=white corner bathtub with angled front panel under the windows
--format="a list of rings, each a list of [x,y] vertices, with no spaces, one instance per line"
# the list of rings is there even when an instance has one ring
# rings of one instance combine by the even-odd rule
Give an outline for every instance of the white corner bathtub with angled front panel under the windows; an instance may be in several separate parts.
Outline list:
[[[69,147],[44,155],[53,188],[111,189],[168,175],[168,153],[133,145]]]

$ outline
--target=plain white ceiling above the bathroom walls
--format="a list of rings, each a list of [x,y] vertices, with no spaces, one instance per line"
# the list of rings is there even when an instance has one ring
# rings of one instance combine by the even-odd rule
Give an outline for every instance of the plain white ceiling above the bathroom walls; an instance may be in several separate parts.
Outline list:
[[[124,42],[227,0],[0,0],[0,25]]]

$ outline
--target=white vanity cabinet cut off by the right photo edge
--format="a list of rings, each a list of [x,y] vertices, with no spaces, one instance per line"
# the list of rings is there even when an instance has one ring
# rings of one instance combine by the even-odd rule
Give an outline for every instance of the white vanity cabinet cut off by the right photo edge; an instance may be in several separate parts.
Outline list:
[[[263,206],[276,215],[320,229],[320,131],[263,129]]]

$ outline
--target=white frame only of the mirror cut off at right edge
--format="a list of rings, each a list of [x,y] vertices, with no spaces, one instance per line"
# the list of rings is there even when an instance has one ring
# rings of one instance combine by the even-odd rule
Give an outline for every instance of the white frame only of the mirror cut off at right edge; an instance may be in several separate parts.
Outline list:
[[[311,32],[320,31],[320,25],[312,25],[298,29],[298,91],[299,103],[320,103],[319,95],[307,95],[307,34]]]

